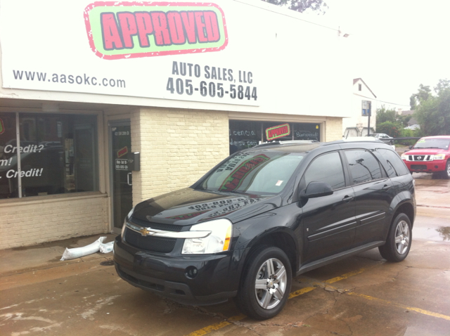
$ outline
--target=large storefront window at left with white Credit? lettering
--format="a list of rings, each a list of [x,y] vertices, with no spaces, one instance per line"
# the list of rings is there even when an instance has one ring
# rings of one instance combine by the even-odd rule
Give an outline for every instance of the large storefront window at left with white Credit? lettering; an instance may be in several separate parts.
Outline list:
[[[15,113],[0,112],[0,199],[20,183],[22,197],[98,190],[95,115],[18,115],[19,150]]]

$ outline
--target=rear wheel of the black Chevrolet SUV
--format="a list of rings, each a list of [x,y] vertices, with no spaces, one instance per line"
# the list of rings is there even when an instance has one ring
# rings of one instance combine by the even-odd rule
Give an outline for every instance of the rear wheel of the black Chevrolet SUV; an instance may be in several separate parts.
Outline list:
[[[387,261],[403,261],[411,249],[413,238],[411,221],[406,214],[399,214],[392,221],[385,245],[378,247],[380,254]]]

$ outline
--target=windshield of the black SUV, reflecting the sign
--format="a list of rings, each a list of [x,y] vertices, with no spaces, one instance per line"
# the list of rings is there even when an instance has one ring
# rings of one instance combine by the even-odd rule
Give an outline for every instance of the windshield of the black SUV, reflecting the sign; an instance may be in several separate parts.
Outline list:
[[[236,153],[197,187],[229,193],[280,193],[305,153]]]

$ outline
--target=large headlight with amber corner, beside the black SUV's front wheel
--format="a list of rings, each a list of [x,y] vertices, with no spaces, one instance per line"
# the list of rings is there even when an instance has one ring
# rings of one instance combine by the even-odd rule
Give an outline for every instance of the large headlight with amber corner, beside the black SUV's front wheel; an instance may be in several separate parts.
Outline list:
[[[228,251],[231,242],[232,224],[228,219],[217,219],[196,224],[190,231],[210,231],[205,238],[185,239],[182,254],[208,254]]]

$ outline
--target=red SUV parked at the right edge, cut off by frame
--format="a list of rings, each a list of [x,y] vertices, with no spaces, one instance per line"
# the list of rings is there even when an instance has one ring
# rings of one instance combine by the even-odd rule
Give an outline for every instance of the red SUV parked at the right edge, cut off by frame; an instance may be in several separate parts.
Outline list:
[[[450,179],[450,136],[425,136],[401,155],[411,174],[434,173]]]

